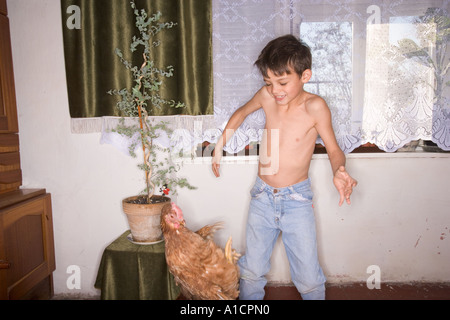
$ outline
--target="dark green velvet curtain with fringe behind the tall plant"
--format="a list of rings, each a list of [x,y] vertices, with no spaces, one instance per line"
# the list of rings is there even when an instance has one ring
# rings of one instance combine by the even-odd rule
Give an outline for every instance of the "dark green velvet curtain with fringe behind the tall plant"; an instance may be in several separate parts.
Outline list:
[[[157,35],[161,45],[153,55],[157,67],[175,69],[172,78],[164,79],[161,97],[186,107],[152,108],[151,115],[213,114],[211,0],[135,3],[149,15],[160,11],[161,22],[177,23]],[[79,14],[73,8],[79,8]],[[135,65],[142,63],[141,55],[129,51],[132,37],[138,35],[130,1],[61,0],[61,13],[70,116],[121,116],[116,109],[119,98],[107,92],[131,88],[133,80],[114,51],[119,48]],[[68,21],[75,27],[69,28]]]

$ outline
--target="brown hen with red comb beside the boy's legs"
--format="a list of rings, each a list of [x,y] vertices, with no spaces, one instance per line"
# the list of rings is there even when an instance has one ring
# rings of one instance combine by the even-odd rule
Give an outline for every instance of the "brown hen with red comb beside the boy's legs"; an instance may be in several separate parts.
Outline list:
[[[214,243],[220,227],[217,223],[192,232],[175,203],[162,209],[167,265],[186,299],[234,300],[239,295],[239,255],[231,249],[231,237],[225,250]]]

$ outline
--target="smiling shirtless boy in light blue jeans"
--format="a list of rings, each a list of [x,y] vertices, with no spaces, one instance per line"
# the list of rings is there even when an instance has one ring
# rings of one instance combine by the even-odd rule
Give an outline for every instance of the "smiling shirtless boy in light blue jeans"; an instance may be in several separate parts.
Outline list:
[[[212,170],[219,177],[222,150],[252,112],[266,115],[258,176],[251,190],[245,255],[239,260],[240,299],[264,298],[265,275],[280,233],[291,278],[306,299],[324,299],[326,278],[317,256],[316,227],[308,171],[318,135],[328,153],[339,205],[350,204],[354,180],[345,169],[326,102],[303,90],[312,75],[309,48],[292,35],[272,40],[255,65],[266,83],[235,111],[217,142]]]

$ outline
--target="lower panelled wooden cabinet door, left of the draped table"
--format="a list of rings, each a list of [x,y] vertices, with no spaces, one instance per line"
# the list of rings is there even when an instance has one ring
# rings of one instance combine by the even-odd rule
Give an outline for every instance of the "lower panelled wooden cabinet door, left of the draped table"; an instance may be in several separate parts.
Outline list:
[[[0,216],[0,297],[20,299],[55,270],[50,194],[4,209]]]

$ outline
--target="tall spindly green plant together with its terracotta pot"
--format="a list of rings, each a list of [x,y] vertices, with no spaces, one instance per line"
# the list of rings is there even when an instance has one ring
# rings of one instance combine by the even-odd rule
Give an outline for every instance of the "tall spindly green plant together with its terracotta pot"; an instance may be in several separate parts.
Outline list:
[[[168,191],[174,191],[177,186],[189,189],[194,187],[186,179],[174,177],[177,167],[171,163],[169,150],[154,143],[160,132],[166,131],[170,134],[167,124],[156,123],[148,118],[152,107],[161,108],[162,105],[173,108],[184,107],[181,102],[166,100],[160,96],[159,90],[163,80],[173,75],[174,68],[167,66],[165,69],[160,69],[155,66],[155,62],[150,57],[151,50],[160,45],[159,41],[153,41],[154,37],[162,30],[171,29],[176,24],[159,22],[160,12],[149,16],[144,9],[137,9],[134,1],[131,1],[131,7],[136,16],[139,36],[133,37],[130,51],[142,55],[142,61],[139,65],[133,65],[120,49],[116,49],[116,55],[132,74],[134,86],[131,89],[110,90],[108,93],[119,96],[117,107],[127,117],[139,120],[138,124],[130,125],[122,118],[115,131],[129,138],[139,135],[139,139],[130,146],[130,155],[133,157],[136,157],[134,152],[136,145],[138,143],[142,145],[143,163],[140,168],[145,172],[145,194],[128,197],[122,201],[122,204],[133,241],[148,243],[162,238],[160,216],[162,207],[171,201],[167,197]],[[165,159],[160,160],[161,156],[165,156]],[[155,195],[156,186],[162,187],[160,190],[164,195]]]

